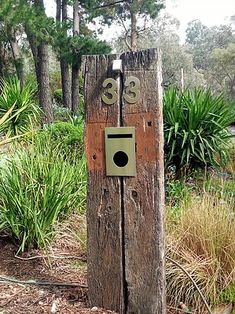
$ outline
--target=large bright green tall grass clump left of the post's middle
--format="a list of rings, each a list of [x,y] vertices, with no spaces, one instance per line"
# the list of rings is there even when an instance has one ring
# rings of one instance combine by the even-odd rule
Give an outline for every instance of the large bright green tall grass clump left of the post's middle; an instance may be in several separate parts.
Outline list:
[[[53,227],[73,210],[84,210],[84,157],[71,163],[41,141],[18,149],[0,172],[0,229],[19,251],[46,247]]]

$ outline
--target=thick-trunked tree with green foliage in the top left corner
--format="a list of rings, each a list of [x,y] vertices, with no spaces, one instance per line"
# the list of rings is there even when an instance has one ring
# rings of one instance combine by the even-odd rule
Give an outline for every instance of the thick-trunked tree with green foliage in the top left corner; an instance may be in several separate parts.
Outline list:
[[[6,0],[0,8],[0,21],[6,29],[16,73],[23,85],[22,49],[18,45],[19,32],[25,31],[34,58],[38,83],[39,104],[44,112],[44,122],[53,120],[49,86],[48,28],[50,21],[43,0]]]

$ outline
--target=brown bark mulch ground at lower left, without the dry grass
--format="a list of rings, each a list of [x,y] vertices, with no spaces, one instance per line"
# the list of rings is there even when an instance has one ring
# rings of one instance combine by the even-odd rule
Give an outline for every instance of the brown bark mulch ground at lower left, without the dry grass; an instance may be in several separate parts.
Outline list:
[[[49,265],[48,260],[43,258],[20,260],[15,257],[15,253],[16,247],[13,244],[0,241],[1,276],[20,280],[76,282],[86,285],[86,272],[84,269],[73,267],[76,263],[75,259],[51,259]],[[87,289],[84,288],[0,283],[0,313],[114,312],[89,308]]]

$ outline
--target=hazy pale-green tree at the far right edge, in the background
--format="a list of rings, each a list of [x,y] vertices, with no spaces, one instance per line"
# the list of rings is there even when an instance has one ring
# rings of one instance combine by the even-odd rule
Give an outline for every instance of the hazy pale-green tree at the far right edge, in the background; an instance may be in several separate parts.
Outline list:
[[[187,48],[195,68],[204,75],[206,85],[234,100],[234,22],[207,27],[199,20],[188,24]]]

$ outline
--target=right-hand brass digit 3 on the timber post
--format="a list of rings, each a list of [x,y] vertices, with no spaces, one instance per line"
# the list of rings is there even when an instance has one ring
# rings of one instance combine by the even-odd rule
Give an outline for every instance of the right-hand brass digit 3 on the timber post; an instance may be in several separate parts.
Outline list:
[[[125,82],[125,87],[125,101],[129,104],[136,103],[140,99],[140,80],[135,76],[129,76]]]

